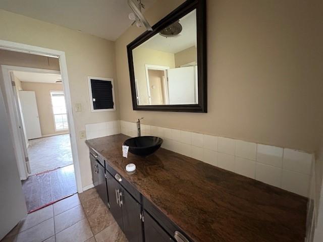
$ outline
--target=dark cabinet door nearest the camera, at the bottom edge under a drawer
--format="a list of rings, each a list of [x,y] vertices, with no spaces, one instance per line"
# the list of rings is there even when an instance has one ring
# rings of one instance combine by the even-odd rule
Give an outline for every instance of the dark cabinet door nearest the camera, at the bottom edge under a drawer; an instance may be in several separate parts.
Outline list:
[[[159,224],[144,211],[144,234],[145,241],[175,242],[175,240]]]

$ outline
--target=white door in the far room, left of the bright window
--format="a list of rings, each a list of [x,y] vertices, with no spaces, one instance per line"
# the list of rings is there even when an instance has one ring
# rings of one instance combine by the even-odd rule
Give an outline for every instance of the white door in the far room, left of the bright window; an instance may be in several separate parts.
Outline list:
[[[33,91],[19,91],[21,110],[26,128],[27,139],[41,137],[36,95]]]

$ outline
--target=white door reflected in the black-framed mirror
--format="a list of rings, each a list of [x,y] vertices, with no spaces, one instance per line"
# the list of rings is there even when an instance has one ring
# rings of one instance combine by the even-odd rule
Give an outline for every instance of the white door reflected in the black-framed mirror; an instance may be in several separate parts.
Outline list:
[[[194,104],[196,102],[195,67],[167,70],[169,104]]]

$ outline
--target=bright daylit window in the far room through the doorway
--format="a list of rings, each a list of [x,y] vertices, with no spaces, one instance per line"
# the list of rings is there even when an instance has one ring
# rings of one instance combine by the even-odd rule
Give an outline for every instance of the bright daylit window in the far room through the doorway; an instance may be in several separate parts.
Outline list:
[[[52,113],[54,115],[55,129],[67,130],[69,128],[67,122],[67,112],[65,105],[65,97],[63,92],[50,92]]]

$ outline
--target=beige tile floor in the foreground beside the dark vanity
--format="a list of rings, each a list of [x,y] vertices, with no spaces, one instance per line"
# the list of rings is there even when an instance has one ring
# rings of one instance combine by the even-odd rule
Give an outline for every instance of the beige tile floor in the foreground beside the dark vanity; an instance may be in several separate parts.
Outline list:
[[[1,242],[128,242],[95,189],[28,214]]]

